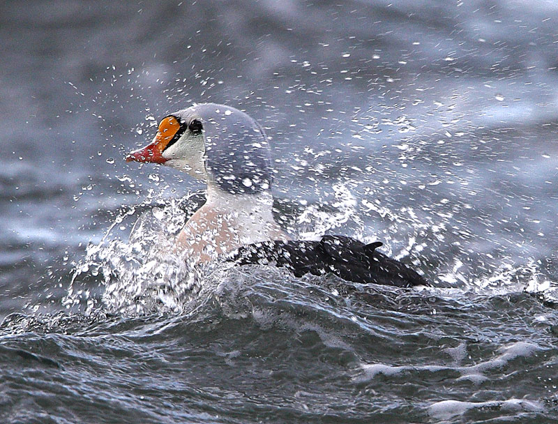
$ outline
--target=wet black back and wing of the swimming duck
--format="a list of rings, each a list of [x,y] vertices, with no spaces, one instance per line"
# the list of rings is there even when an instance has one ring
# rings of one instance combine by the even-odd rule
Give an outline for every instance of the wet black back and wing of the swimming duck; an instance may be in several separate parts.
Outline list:
[[[376,251],[382,243],[365,245],[345,236],[323,236],[320,241],[266,241],[239,248],[229,261],[240,265],[283,266],[297,277],[333,273],[343,280],[397,287],[428,282],[404,264]]]

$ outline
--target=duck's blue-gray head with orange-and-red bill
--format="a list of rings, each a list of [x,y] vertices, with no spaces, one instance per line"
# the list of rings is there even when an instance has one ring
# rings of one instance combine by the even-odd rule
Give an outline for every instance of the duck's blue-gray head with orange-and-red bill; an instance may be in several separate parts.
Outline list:
[[[270,147],[264,130],[244,112],[200,103],[165,116],[151,144],[126,161],[179,169],[232,194],[269,190]]]

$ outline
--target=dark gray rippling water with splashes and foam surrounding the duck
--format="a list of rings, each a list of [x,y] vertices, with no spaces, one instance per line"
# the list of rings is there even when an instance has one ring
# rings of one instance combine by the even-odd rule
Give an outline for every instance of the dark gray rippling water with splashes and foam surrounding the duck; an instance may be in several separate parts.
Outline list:
[[[550,0],[1,3],[0,421],[558,422],[557,24]],[[283,225],[435,287],[158,256],[202,185],[123,156],[205,101],[271,136]]]

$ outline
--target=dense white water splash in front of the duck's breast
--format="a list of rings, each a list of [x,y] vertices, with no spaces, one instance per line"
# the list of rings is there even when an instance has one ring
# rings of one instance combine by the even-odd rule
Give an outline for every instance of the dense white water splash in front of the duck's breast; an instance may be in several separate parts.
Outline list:
[[[174,238],[201,202],[199,193],[159,202],[148,197],[121,211],[76,265],[63,300],[66,308],[86,314],[180,310],[199,290],[204,270],[174,252]],[[115,234],[132,222],[128,240]]]

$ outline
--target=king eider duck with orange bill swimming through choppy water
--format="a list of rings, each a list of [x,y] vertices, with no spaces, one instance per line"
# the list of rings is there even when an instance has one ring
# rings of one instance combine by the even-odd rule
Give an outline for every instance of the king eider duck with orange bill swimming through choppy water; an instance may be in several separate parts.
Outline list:
[[[234,107],[200,103],[163,118],[151,144],[126,161],[153,162],[206,182],[206,202],[176,238],[189,261],[283,266],[296,276],[398,287],[428,285],[401,262],[346,236],[292,240],[273,219],[271,150],[259,123]]]

